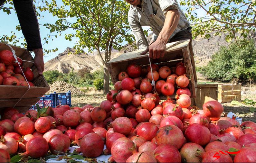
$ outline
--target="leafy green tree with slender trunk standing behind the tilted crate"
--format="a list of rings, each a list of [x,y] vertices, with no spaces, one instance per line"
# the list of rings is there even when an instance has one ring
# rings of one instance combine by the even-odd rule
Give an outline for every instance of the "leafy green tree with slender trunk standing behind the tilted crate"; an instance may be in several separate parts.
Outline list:
[[[79,41],[74,49],[79,52],[84,48],[89,51],[97,51],[97,54],[104,65],[104,93],[109,92],[109,71],[107,62],[111,57],[111,50],[121,50],[124,48],[121,43],[133,42],[133,35],[127,33],[128,3],[123,0],[62,0],[63,5],[58,6],[56,0],[50,3],[45,1],[45,6],[41,6],[41,11],[48,11],[58,20],[55,24],[44,24],[51,32],[61,33],[69,28],[75,33],[65,35],[66,40],[74,37]],[[76,21],[67,19],[75,18]],[[73,19],[74,20],[74,19]],[[101,51],[105,51],[101,53]]]

